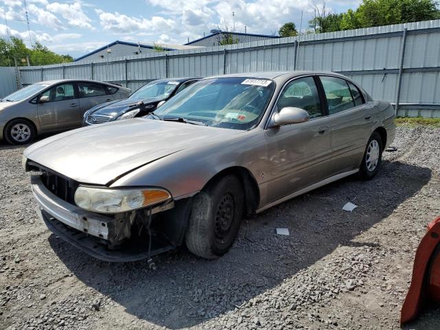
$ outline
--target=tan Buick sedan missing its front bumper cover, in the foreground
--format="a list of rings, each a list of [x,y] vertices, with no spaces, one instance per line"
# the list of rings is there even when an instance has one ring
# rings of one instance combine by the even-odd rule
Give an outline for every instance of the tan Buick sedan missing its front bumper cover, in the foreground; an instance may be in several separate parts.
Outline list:
[[[38,142],[23,166],[47,227],[80,250],[133,261],[186,242],[214,259],[246,215],[374,177],[394,118],[391,104],[331,72],[214,76],[146,118]]]

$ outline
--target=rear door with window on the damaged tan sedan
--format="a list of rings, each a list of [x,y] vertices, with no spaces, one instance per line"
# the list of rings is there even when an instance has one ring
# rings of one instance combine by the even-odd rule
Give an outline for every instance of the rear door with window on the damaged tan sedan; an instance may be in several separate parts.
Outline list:
[[[373,106],[352,83],[335,76],[320,76],[327,102],[333,175],[360,166],[373,128]]]

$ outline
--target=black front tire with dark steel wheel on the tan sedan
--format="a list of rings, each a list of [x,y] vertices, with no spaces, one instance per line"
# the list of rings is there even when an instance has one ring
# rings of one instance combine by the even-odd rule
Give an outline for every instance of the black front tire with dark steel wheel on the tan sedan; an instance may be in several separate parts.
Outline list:
[[[188,219],[188,250],[205,259],[217,259],[228,252],[239,232],[243,206],[243,187],[234,175],[222,177],[199,192]]]

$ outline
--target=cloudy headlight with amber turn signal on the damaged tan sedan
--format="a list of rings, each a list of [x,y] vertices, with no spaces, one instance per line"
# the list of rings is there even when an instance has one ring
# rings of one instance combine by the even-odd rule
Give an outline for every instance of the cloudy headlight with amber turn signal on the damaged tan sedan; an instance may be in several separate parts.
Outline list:
[[[168,191],[157,188],[109,189],[79,186],[75,192],[76,205],[99,213],[137,210],[170,198]]]

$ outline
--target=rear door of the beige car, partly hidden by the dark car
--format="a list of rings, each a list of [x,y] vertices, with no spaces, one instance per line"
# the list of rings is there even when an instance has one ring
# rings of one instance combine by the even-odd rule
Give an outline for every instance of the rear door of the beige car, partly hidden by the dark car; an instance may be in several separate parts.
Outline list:
[[[115,94],[110,94],[107,85],[100,83],[91,83],[88,81],[78,81],[78,91],[80,98],[80,122],[83,120],[83,114],[91,107],[104,102],[115,100]],[[115,88],[115,87],[114,87]]]

